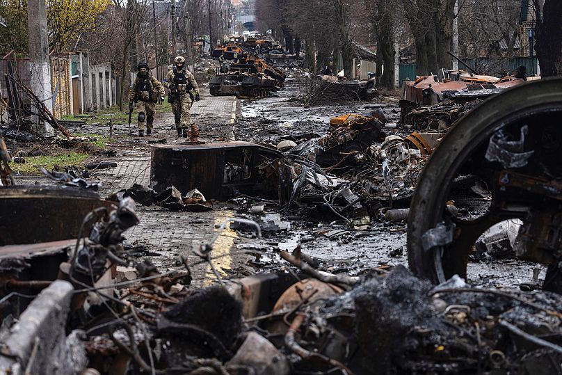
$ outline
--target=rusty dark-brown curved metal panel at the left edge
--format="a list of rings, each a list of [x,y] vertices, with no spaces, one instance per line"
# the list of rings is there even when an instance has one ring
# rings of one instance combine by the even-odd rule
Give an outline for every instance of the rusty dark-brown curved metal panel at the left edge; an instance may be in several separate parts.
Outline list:
[[[3,186],[0,245],[76,238],[88,212],[110,206],[97,193],[74,187]]]

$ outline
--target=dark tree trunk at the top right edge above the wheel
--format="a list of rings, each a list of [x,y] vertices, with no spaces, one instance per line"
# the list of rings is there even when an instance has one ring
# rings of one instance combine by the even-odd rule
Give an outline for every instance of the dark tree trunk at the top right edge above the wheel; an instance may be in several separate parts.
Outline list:
[[[536,1],[537,3],[538,1]],[[542,17],[537,17],[535,51],[542,77],[562,76],[561,0],[545,0]]]

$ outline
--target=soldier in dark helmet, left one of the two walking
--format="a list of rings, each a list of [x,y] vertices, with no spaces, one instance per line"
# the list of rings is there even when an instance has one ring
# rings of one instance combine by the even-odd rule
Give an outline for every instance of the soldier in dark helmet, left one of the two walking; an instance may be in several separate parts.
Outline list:
[[[146,119],[146,135],[152,133],[152,121],[154,121],[154,109],[158,99],[164,100],[166,91],[162,83],[150,74],[147,63],[139,63],[137,66],[133,88],[129,91],[129,111],[133,110],[133,102],[136,102],[136,111],[138,112],[138,136],[145,136],[145,119]]]

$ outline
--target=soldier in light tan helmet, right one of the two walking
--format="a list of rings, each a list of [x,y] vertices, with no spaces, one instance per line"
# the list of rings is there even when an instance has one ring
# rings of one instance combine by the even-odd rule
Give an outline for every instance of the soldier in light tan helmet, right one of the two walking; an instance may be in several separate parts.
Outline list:
[[[199,129],[195,124],[191,124],[191,131],[188,128],[190,126],[189,109],[191,109],[193,100],[200,99],[199,86],[193,74],[186,69],[185,62],[186,59],[183,56],[177,56],[174,59],[174,66],[168,70],[166,76],[168,82],[166,85],[170,90],[168,101],[172,104],[177,136],[184,138],[191,136],[191,140],[195,141],[199,136]],[[192,90],[195,96],[191,93]]]

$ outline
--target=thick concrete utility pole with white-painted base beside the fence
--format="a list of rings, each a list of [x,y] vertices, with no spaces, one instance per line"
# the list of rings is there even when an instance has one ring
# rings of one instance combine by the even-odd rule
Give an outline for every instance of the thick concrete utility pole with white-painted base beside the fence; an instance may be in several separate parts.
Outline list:
[[[29,0],[27,3],[27,22],[29,24],[29,67],[31,69],[31,91],[53,111],[51,93],[51,69],[49,65],[49,40],[47,38],[47,10],[45,0]],[[33,107],[38,114],[39,109]],[[33,115],[33,122],[40,132],[54,135],[51,125],[44,122],[40,125],[38,115]]]

